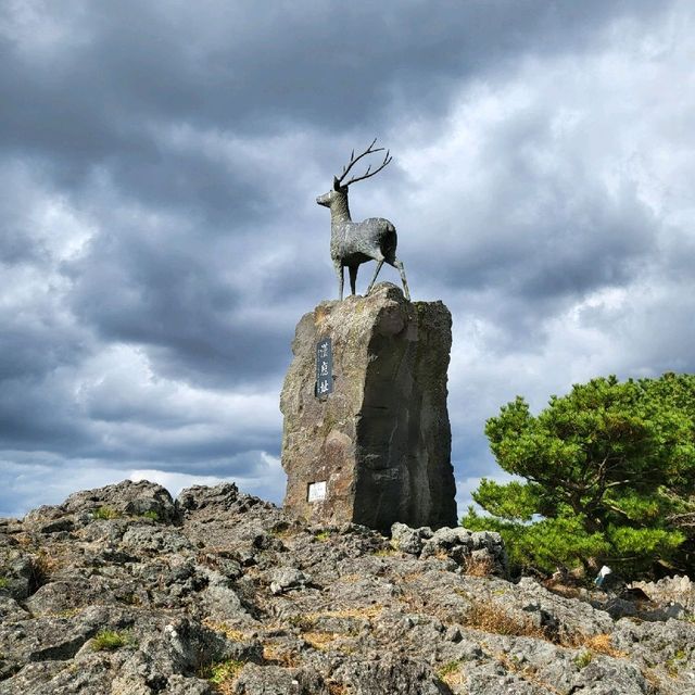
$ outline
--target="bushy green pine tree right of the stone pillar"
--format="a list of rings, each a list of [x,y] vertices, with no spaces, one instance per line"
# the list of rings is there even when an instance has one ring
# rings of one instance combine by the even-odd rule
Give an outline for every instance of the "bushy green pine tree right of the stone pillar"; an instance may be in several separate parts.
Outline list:
[[[483,479],[473,500],[490,516],[469,507],[462,525],[498,530],[517,567],[693,569],[695,376],[593,379],[538,416],[517,397],[485,434],[519,480]]]

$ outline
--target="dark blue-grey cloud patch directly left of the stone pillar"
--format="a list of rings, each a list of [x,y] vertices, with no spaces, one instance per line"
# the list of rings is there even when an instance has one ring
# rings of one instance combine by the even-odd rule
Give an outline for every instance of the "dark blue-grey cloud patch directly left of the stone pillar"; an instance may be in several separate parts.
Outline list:
[[[253,292],[231,288],[225,258],[215,257],[227,251],[245,268],[253,243],[194,237],[190,229],[100,236],[71,267],[73,311],[104,340],[152,346],[167,374],[213,387],[275,376],[288,326],[254,312]]]

